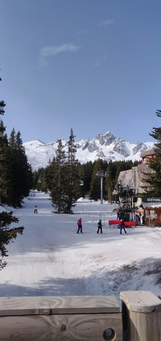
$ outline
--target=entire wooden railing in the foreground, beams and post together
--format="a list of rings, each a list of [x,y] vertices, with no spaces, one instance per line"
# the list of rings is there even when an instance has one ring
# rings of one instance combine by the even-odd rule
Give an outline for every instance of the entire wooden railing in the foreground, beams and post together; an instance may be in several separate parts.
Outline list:
[[[0,298],[0,340],[161,341],[161,295]]]

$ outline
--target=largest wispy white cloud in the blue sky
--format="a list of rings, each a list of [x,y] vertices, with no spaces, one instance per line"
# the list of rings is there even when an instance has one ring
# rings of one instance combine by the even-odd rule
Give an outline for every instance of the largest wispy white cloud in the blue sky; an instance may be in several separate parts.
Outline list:
[[[39,61],[41,62],[41,64],[47,65],[48,62],[46,61],[46,57],[55,56],[61,52],[67,52],[67,51],[76,52],[79,48],[80,46],[76,46],[71,43],[63,44],[60,46],[53,46],[53,45],[45,46],[40,51]]]

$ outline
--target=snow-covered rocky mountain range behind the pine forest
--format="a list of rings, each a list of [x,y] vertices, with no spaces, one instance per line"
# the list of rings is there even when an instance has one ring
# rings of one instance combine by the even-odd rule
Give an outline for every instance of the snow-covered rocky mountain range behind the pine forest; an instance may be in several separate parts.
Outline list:
[[[61,140],[65,151],[68,151],[68,141]],[[45,167],[49,158],[52,160],[56,155],[59,140],[51,143],[44,143],[41,140],[31,140],[23,143],[25,147],[28,162],[31,163],[33,170]],[[102,135],[98,134],[95,139],[81,140],[75,142],[76,157],[81,163],[94,161],[99,158],[112,161],[119,160],[140,160],[140,154],[154,147],[153,142],[141,142],[132,144],[125,139],[117,138],[109,131]]]

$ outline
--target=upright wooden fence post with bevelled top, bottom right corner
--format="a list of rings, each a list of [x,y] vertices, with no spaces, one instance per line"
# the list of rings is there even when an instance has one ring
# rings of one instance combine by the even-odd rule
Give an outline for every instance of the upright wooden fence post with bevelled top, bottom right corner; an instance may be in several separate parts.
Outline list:
[[[150,291],[123,291],[123,341],[161,341],[161,301]]]

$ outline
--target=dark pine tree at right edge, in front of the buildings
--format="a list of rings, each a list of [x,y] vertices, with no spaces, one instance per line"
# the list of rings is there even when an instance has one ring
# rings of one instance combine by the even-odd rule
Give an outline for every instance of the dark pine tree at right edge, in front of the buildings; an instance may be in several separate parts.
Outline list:
[[[161,117],[161,110],[157,110],[156,115]],[[146,195],[161,197],[161,127],[153,127],[153,130],[149,135],[157,140],[155,146],[159,149],[156,158],[149,159],[149,168],[153,170],[153,173],[143,173],[146,175],[146,178],[143,178],[142,180],[148,183],[148,186],[143,186],[143,188]]]

